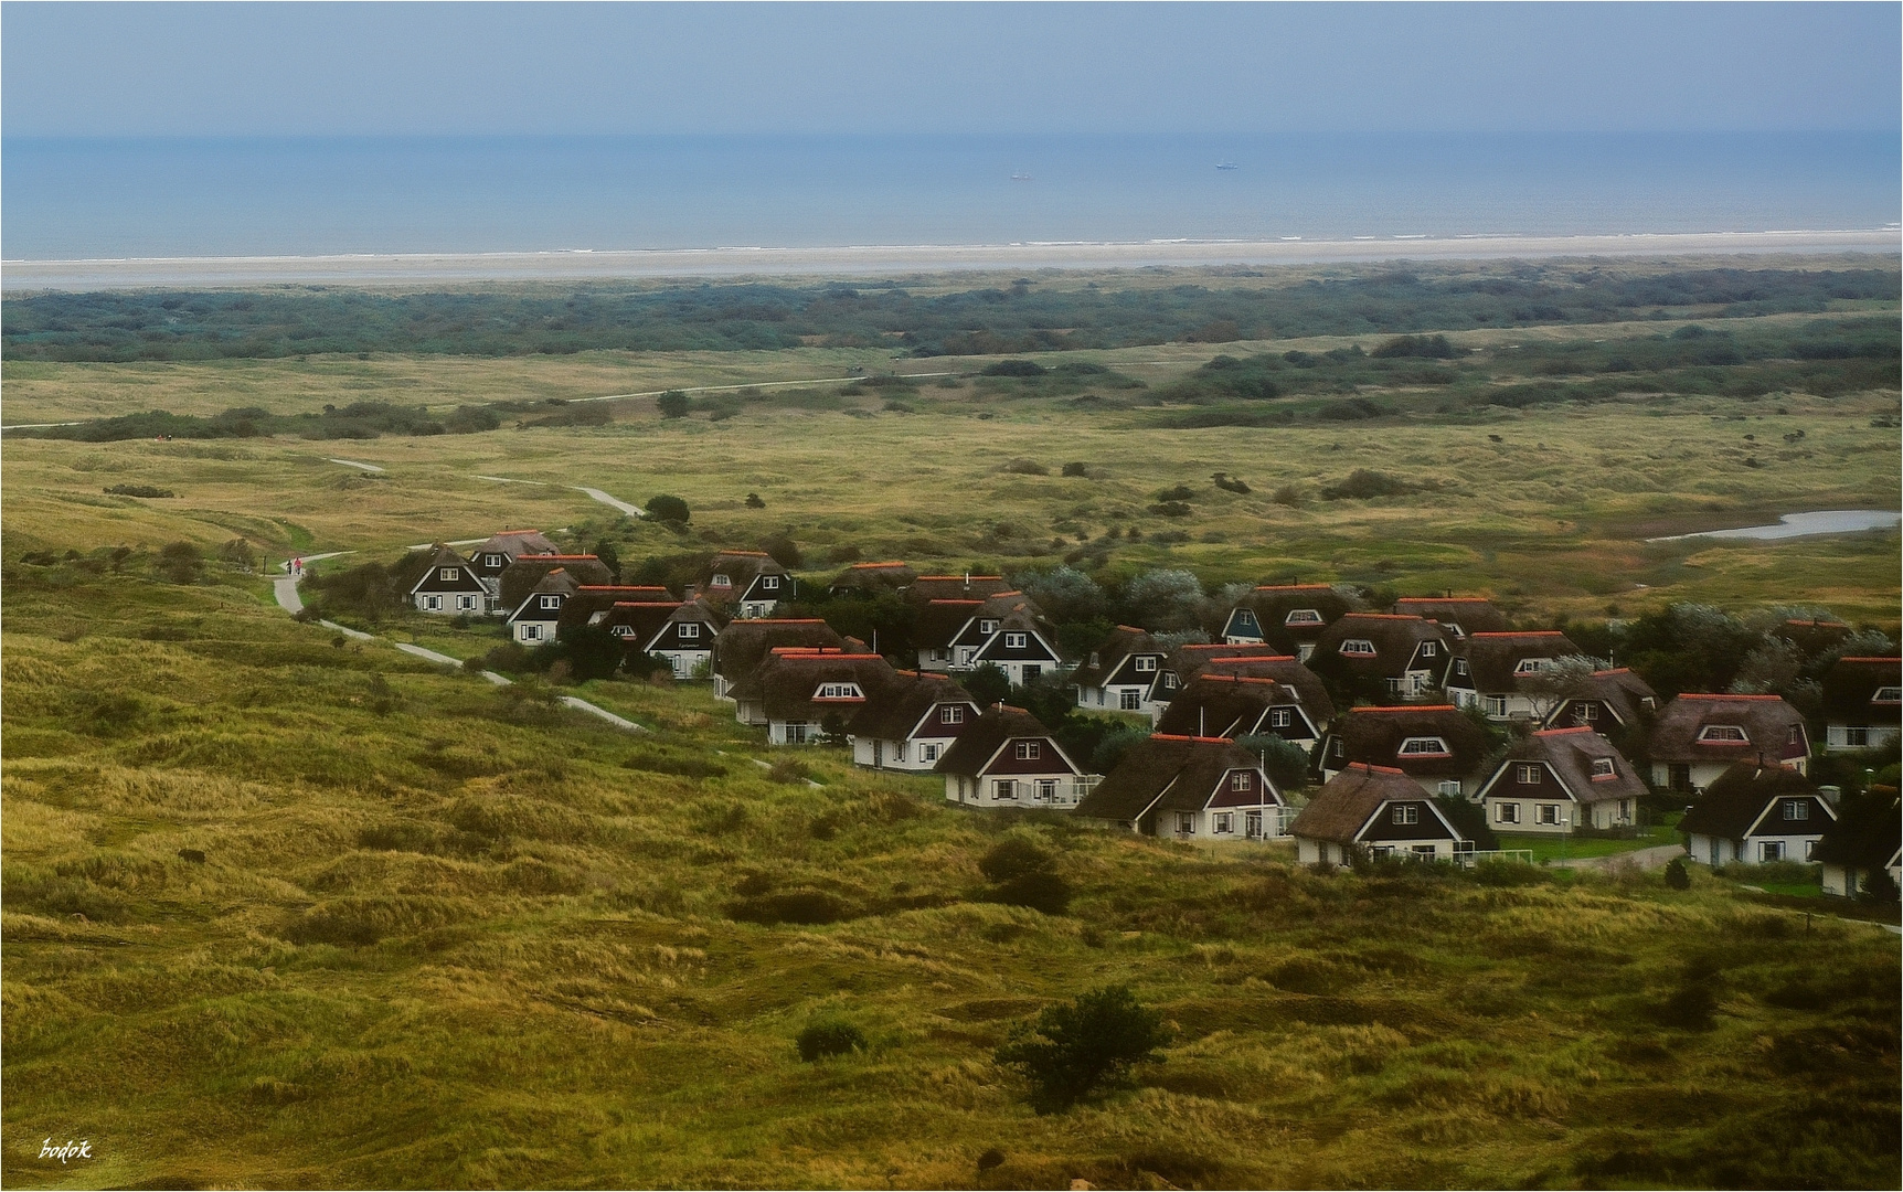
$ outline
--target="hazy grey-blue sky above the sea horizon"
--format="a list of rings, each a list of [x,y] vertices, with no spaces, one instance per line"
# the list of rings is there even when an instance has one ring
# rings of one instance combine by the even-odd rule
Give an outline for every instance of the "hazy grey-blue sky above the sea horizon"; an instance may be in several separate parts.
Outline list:
[[[4,133],[1890,129],[1897,4],[29,4]]]

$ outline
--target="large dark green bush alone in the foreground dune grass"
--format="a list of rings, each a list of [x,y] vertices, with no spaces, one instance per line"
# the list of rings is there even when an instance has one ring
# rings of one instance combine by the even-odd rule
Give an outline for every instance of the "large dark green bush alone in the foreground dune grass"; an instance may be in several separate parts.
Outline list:
[[[1136,1064],[1163,1063],[1157,1049],[1168,1042],[1163,1015],[1140,1005],[1130,986],[1111,984],[1018,1024],[991,1059],[1020,1070],[1031,1106],[1049,1114],[1123,1087]]]

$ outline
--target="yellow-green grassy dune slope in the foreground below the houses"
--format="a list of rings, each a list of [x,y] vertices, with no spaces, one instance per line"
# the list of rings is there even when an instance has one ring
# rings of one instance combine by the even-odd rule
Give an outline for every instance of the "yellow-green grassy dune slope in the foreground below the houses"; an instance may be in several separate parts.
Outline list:
[[[615,684],[630,739],[128,567],[8,585],[11,1186],[971,1186],[991,1146],[991,1186],[1897,1181],[1867,924],[1705,878],[1317,876],[828,752],[775,785],[700,687]],[[1071,914],[982,901],[1005,830]],[[735,918],[795,891],[839,920]],[[1109,981],[1167,1063],[1031,1114],[991,1047]],[[1703,984],[1709,1026],[1673,1009]],[[816,1017],[870,1051],[799,1063]],[[69,1135],[99,1158],[34,1158]]]

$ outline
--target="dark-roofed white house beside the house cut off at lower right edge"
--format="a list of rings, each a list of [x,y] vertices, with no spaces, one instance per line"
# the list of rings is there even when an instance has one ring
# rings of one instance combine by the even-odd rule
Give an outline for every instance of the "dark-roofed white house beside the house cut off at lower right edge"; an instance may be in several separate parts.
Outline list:
[[[1836,807],[1808,777],[1775,762],[1724,769],[1678,821],[1684,851],[1705,864],[1814,861]]]

